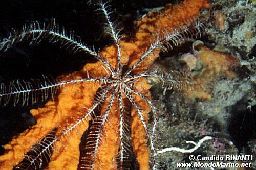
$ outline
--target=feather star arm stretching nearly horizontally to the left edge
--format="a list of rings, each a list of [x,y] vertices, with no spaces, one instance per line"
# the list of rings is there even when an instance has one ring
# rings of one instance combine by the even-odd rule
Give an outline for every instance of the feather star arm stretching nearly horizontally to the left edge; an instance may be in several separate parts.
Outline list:
[[[40,79],[31,79],[30,81],[17,80],[12,81],[9,86],[5,86],[1,83],[0,86],[0,104],[2,106],[7,105],[10,101],[13,105],[19,103],[22,106],[28,106],[29,104],[35,104],[38,100],[42,102],[51,97],[54,99],[54,95],[58,88],[61,88],[67,84],[77,82],[93,82],[93,81],[106,81],[104,78],[85,78],[74,79],[69,81],[56,81],[51,76],[42,76]],[[0,105],[0,106],[1,106]]]

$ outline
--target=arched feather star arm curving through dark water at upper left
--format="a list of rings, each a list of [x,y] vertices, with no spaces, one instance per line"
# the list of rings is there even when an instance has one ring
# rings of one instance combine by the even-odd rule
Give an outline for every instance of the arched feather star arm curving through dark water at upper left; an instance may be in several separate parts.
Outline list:
[[[67,32],[64,27],[55,22],[55,19],[52,19],[50,23],[44,23],[42,26],[38,21],[34,21],[30,25],[23,26],[19,32],[14,30],[8,38],[4,38],[0,42],[0,50],[7,51],[14,44],[26,40],[30,43],[39,43],[41,40],[48,40],[49,43],[59,42],[61,47],[73,53],[83,51],[97,56],[94,50],[82,43],[81,38],[75,38],[73,31]]]

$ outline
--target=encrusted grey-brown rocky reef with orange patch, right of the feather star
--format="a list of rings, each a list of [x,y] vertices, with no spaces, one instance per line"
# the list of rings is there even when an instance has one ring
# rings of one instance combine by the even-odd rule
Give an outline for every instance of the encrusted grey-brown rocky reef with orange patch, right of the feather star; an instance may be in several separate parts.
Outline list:
[[[183,69],[202,88],[177,94],[164,93],[155,86],[152,93],[157,91],[156,103],[162,108],[158,115],[159,148],[190,149],[194,145],[186,141],[197,142],[205,135],[214,139],[194,153],[159,155],[162,169],[193,163],[189,155],[253,155],[250,162],[256,167],[255,1],[209,3],[211,10],[204,11],[202,17],[212,20],[201,41],[186,44],[183,52],[180,47],[177,53],[167,54],[172,57],[155,65],[166,71]]]

